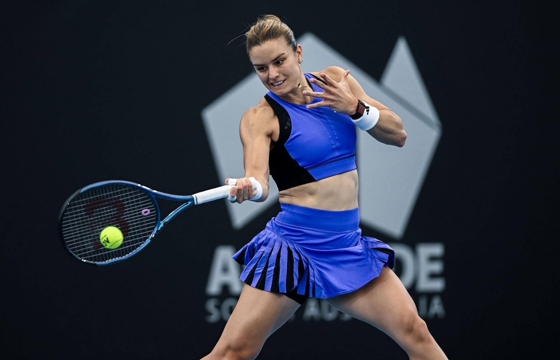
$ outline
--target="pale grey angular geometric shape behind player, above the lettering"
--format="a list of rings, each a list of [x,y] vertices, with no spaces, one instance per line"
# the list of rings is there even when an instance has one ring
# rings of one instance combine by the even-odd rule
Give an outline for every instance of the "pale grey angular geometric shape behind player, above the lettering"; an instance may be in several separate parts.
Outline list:
[[[440,120],[407,42],[403,37],[398,39],[381,81],[377,82],[315,35],[308,32],[299,40],[304,49],[304,72],[333,65],[350,69],[370,97],[388,106],[403,120],[408,138],[402,148],[382,144],[366,132],[357,131],[361,222],[399,240],[441,136]],[[239,120],[265,92],[259,78],[249,74],[202,110],[220,181],[244,175]],[[277,200],[278,188],[271,177],[269,197],[264,203],[227,202],[232,226],[237,229],[245,226]]]

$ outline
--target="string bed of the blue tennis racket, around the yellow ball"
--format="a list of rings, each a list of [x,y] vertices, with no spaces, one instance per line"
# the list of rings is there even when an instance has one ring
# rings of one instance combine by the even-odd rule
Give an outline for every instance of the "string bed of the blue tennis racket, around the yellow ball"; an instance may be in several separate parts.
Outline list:
[[[82,260],[104,263],[138,249],[150,237],[157,219],[157,205],[146,192],[126,184],[108,184],[71,199],[60,226],[68,250]],[[123,233],[123,242],[115,249],[100,241],[101,231],[108,226]]]

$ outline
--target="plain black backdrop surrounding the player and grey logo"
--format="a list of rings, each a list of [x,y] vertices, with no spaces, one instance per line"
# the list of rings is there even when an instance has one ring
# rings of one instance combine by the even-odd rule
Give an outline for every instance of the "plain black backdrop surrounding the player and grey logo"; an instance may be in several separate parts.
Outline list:
[[[405,36],[442,123],[403,237],[445,242],[446,317],[428,328],[450,359],[539,354],[552,322],[543,258],[556,242],[547,12],[471,2],[4,7],[3,355],[198,359],[212,349],[224,325],[204,321],[212,251],[245,244],[278,207],[235,231],[224,203],[206,204],[138,256],[100,268],[63,250],[57,216],[101,180],[172,194],[221,185],[200,110],[250,73],[240,39],[227,44],[265,13],[376,80]],[[407,358],[357,320],[288,322],[259,358],[287,356]]]

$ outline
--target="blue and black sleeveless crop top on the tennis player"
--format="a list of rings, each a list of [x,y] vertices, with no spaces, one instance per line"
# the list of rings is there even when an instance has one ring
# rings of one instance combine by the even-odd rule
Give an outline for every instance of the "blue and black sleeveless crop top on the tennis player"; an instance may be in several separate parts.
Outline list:
[[[304,76],[324,82],[312,74]],[[323,92],[314,84],[311,87]],[[307,109],[280,99],[272,91],[264,97],[280,124],[278,142],[270,149],[268,161],[278,190],[356,169],[356,128],[350,116],[326,106]],[[315,98],[311,104],[321,100]]]

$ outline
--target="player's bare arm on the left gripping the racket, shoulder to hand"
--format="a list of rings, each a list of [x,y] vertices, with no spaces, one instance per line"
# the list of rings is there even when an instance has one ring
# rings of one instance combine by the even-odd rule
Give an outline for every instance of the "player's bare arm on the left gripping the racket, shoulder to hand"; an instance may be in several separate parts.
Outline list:
[[[270,116],[272,113],[273,116]],[[249,177],[263,186],[262,196],[256,202],[263,202],[268,197],[269,191],[269,169],[268,152],[273,136],[274,113],[269,106],[256,106],[245,111],[239,124],[239,135],[243,145],[243,166],[245,177],[237,180],[237,184],[230,190],[230,196],[237,196],[236,203],[253,198],[256,190],[253,190]],[[277,125],[278,127],[278,125]],[[226,179],[226,184],[229,179]]]

